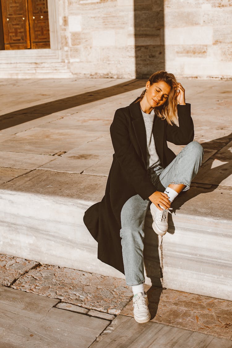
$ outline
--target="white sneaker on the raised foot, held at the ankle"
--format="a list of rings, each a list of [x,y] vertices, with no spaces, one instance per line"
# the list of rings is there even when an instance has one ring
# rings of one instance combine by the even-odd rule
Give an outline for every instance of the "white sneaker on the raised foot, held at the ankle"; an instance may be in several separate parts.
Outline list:
[[[151,203],[150,210],[153,218],[153,230],[158,235],[164,236],[168,230],[168,213],[170,212],[167,209],[159,210],[154,203]]]

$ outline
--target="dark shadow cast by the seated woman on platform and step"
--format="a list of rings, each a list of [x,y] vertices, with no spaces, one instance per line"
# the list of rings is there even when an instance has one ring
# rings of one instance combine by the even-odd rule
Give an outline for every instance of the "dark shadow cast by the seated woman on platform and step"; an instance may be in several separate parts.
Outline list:
[[[182,192],[178,198],[174,201],[172,207],[174,214],[185,202],[200,195],[201,193],[209,193],[214,191],[220,183],[232,174],[232,152],[230,147],[232,144],[232,133],[211,140],[209,142],[202,143],[205,152],[205,161],[203,159],[203,165],[201,166],[197,176],[194,178],[193,183],[188,191]],[[209,159],[207,159],[207,157]],[[162,294],[162,259],[160,253],[162,250],[162,242],[159,245],[159,238],[154,233],[151,227],[151,214],[150,211],[146,215],[145,219],[145,237],[144,237],[144,266],[146,276],[151,279],[152,287],[147,291],[149,299],[149,309],[151,318],[154,318],[157,314],[158,304],[160,296]],[[175,226],[171,215],[169,215],[169,230],[170,234],[174,234]],[[160,241],[162,239],[160,238]]]

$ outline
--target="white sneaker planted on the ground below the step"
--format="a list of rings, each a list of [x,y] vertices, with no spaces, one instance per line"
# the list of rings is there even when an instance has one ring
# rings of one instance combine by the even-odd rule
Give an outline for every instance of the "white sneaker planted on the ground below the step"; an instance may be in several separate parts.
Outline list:
[[[134,318],[137,323],[146,323],[151,319],[151,314],[148,309],[147,294],[139,292],[133,297]]]

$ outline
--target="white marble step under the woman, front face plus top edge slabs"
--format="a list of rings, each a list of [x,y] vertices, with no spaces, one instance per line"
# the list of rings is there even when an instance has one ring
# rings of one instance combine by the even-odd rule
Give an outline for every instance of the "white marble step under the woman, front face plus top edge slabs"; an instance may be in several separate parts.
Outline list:
[[[97,243],[83,223],[85,210],[101,200],[106,180],[34,170],[2,184],[0,252],[124,278],[97,259]],[[232,300],[231,192],[191,187],[175,200],[162,238],[154,233],[147,213],[146,284]]]

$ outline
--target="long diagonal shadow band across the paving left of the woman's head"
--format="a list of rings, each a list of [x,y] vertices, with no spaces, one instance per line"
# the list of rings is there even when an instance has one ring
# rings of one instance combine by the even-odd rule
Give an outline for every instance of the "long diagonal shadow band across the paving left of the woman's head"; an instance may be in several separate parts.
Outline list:
[[[140,87],[144,87],[144,81],[133,79],[111,87],[101,88],[92,92],[77,94],[71,97],[9,112],[0,116],[0,130],[17,126],[24,122],[35,120],[55,112],[71,109],[75,106],[92,103],[114,95],[130,92],[131,90]]]

